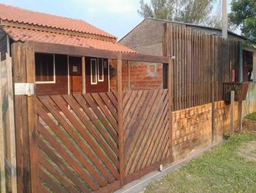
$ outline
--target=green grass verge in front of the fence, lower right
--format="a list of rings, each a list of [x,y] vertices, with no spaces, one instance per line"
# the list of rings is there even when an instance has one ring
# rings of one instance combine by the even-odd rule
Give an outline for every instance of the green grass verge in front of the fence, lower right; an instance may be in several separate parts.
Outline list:
[[[255,134],[237,134],[174,173],[154,181],[145,192],[256,192],[256,161],[238,155]],[[256,157],[256,147],[250,155]]]

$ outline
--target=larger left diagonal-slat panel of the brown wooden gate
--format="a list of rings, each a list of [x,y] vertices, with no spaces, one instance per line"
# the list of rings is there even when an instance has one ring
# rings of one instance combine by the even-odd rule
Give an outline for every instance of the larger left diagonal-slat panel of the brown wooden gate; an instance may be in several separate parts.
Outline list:
[[[38,192],[104,192],[120,183],[115,93],[37,96]]]

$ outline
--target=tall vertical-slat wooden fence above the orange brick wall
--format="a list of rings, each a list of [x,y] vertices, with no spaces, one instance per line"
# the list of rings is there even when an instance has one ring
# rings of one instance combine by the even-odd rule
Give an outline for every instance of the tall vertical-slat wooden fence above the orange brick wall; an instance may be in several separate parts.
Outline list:
[[[239,42],[166,24],[163,45],[164,56],[175,56],[174,111],[223,100],[223,82],[232,81],[232,70],[238,79]]]

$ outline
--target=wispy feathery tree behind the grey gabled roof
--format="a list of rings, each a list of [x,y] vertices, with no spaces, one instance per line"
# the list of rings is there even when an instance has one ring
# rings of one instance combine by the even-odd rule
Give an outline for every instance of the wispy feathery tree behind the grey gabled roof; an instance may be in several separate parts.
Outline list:
[[[218,0],[150,0],[148,4],[141,0],[138,13],[144,18],[215,27],[220,24],[220,16],[216,14],[219,10],[213,8],[216,2]]]

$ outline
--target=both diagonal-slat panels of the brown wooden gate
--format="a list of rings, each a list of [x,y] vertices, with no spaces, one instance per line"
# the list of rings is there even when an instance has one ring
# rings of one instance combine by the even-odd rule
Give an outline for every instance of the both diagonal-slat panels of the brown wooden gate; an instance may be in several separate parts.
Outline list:
[[[39,192],[110,192],[169,159],[168,89],[123,92],[124,168],[116,93],[36,96]]]

